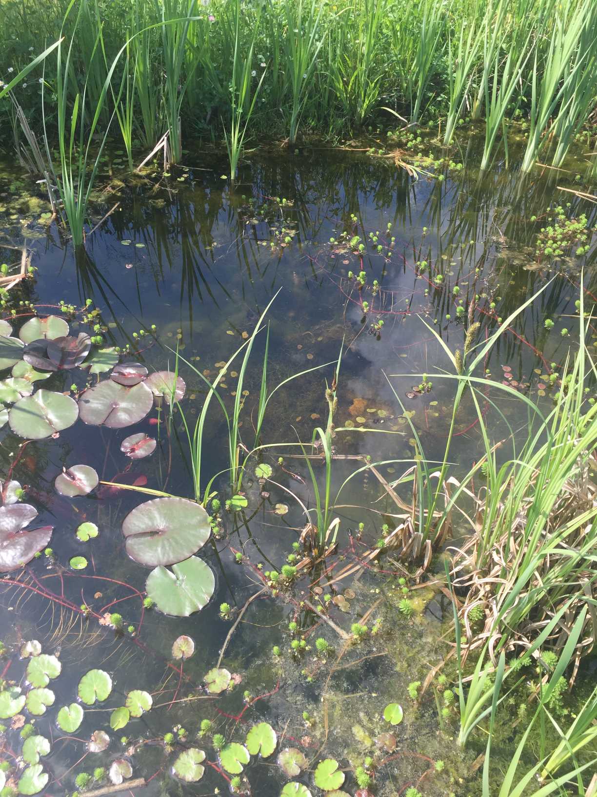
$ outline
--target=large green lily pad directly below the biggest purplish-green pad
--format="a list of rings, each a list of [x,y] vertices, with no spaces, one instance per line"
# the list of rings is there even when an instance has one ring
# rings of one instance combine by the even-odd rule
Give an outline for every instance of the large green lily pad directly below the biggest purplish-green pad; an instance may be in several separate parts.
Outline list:
[[[172,570],[156,567],[147,576],[147,595],[164,614],[189,617],[209,603],[216,579],[209,565],[197,556],[174,564]]]

